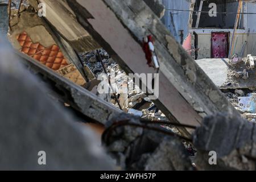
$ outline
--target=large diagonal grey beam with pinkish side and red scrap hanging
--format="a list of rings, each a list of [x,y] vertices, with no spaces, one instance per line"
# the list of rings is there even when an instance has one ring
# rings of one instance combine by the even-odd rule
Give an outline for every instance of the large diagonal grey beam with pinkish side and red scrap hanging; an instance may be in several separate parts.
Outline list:
[[[154,36],[160,62],[159,97],[154,102],[172,121],[199,126],[202,117],[218,111],[239,117],[144,1],[67,2],[79,23],[127,73],[156,73],[142,50],[143,37]]]

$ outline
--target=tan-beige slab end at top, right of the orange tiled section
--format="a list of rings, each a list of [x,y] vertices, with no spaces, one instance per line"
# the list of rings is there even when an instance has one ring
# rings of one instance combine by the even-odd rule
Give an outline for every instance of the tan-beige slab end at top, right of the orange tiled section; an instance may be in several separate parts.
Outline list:
[[[75,13],[65,1],[29,0],[28,2],[35,10],[40,9],[38,3],[44,3],[46,6],[46,16],[44,18],[77,52],[93,51],[100,48],[92,36],[77,22]]]

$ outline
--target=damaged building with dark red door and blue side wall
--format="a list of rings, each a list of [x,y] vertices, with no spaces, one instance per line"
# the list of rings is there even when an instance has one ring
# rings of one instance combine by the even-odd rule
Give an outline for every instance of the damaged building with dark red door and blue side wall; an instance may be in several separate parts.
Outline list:
[[[164,24],[181,44],[188,37],[195,59],[255,55],[255,2],[243,1],[240,9],[236,0],[163,1],[163,5]]]

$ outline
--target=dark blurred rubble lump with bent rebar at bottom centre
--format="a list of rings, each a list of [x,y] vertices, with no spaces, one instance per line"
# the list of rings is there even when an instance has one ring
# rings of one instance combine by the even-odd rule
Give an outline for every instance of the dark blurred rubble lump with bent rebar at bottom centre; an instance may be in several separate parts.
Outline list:
[[[193,169],[181,140],[158,124],[152,129],[140,117],[120,114],[106,126],[103,143],[123,170]]]

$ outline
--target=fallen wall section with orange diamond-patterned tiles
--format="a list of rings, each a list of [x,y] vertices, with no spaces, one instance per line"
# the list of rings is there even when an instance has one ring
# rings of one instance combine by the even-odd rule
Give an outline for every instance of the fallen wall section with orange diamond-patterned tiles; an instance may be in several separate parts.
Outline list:
[[[21,6],[21,9],[19,15],[17,9],[11,10],[9,40],[15,49],[20,49],[55,71],[73,65],[72,70],[65,69],[65,72],[71,72],[64,77],[81,86],[94,79],[92,72],[81,64],[74,49],[52,29],[51,25],[40,18],[31,6]],[[59,52],[53,50],[53,46],[58,46]],[[57,57],[52,54],[54,51]],[[63,61],[66,65],[62,64]],[[61,64],[61,67],[58,64]]]

